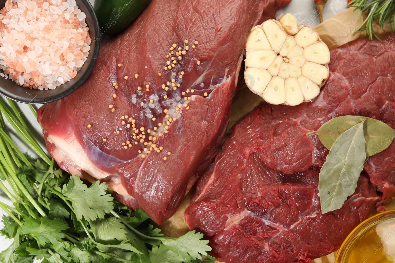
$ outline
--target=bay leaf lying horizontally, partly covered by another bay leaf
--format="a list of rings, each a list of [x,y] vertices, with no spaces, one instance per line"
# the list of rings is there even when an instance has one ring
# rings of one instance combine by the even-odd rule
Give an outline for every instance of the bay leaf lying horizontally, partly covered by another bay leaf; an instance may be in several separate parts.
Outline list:
[[[363,116],[347,115],[333,118],[324,123],[318,131],[309,132],[307,135],[317,134],[322,144],[330,150],[337,138],[339,138],[343,132],[357,123],[361,123],[363,120],[365,120],[363,132],[366,141],[366,155],[372,156],[387,149],[395,138],[395,131],[382,121]]]

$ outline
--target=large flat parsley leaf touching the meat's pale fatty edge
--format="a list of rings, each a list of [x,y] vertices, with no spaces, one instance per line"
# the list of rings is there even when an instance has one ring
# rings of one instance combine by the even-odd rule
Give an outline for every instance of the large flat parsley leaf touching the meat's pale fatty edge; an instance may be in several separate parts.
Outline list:
[[[87,221],[92,221],[104,218],[114,208],[114,198],[106,190],[105,183],[96,181],[88,188],[77,175],[71,175],[67,186],[63,185],[62,194],[71,201],[77,219],[84,217]]]

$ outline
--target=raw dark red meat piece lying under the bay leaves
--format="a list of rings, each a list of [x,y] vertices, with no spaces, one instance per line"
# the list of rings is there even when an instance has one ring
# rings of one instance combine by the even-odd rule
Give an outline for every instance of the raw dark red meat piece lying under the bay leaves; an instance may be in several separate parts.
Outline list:
[[[393,198],[395,144],[369,157],[358,187],[322,215],[318,176],[328,150],[316,131],[331,118],[367,116],[395,127],[395,34],[331,50],[329,80],[299,106],[264,104],[239,122],[201,176],[185,215],[226,263],[310,262]]]

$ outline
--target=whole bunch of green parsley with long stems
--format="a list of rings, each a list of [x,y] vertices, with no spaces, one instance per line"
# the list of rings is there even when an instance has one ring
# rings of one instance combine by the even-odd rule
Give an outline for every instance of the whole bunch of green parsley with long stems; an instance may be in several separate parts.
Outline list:
[[[36,112],[30,106],[34,114]],[[11,100],[0,99],[8,123],[40,157],[24,155],[6,132],[0,114],[0,188],[14,207],[0,202],[4,228],[14,239],[0,253],[2,263],[181,263],[201,262],[211,248],[203,234],[190,231],[167,238],[141,209],[128,209],[99,181],[88,186],[49,159]],[[7,181],[12,191],[4,185]],[[115,210],[114,210],[115,209]],[[208,256],[205,263],[214,262]]]

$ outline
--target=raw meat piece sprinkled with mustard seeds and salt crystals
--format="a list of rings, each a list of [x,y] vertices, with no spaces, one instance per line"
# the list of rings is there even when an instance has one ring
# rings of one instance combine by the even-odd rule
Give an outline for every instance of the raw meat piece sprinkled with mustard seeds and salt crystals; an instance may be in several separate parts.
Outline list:
[[[288,2],[153,0],[105,41],[81,88],[40,108],[49,152],[64,170],[107,182],[122,203],[166,220],[218,152],[250,29]]]

